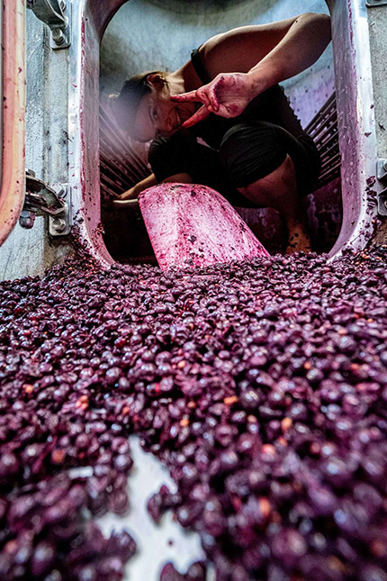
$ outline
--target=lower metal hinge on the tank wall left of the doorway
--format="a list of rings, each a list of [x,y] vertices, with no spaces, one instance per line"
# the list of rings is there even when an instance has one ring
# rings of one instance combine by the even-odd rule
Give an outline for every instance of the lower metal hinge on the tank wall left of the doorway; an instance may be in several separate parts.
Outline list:
[[[67,184],[48,186],[35,177],[31,169],[26,175],[26,195],[19,223],[32,228],[36,216],[49,216],[49,234],[67,236],[71,230],[71,189]]]

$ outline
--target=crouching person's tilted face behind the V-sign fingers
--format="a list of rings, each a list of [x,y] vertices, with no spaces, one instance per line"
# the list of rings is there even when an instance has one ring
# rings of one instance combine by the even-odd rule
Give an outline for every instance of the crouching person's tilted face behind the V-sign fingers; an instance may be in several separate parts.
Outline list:
[[[130,130],[135,140],[143,142],[154,140],[158,136],[172,135],[194,113],[193,104],[175,104],[170,100],[167,85],[157,82],[149,83],[149,86],[151,92],[142,98]]]

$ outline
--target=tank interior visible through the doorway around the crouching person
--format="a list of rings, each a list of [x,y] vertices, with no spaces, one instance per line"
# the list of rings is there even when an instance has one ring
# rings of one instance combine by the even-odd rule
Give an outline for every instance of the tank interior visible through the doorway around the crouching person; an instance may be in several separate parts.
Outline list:
[[[298,12],[328,14],[323,0]],[[104,241],[118,261],[154,261],[138,205],[117,203],[114,198],[151,172],[147,150],[122,132],[112,113],[109,95],[123,82],[144,70],[175,70],[191,51],[211,36],[247,24],[269,23],[296,15],[287,2],[272,3],[270,14],[258,3],[196,2],[189,9],[175,1],[167,6],[157,0],[132,0],[121,6],[104,32],[100,59],[100,179]],[[205,21],[205,22],[204,22]],[[128,35],[130,23],[135,29]],[[166,35],[171,31],[172,36]],[[171,40],[172,39],[172,40]],[[342,207],[340,154],[331,46],[301,75],[284,83],[285,94],[302,127],[320,150],[322,168],[313,193],[302,200],[309,222],[313,249],[328,252],[338,238]],[[221,192],[220,192],[221,193]],[[271,209],[238,207],[238,213],[271,253],[284,251],[287,235],[279,214]]]

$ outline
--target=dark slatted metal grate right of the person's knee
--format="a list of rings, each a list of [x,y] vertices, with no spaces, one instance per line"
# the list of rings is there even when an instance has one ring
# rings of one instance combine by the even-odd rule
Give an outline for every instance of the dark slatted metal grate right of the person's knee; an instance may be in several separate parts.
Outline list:
[[[341,158],[338,150],[338,112],[336,93],[330,95],[311,123],[305,128],[316,143],[321,156],[321,171],[316,189],[340,176]]]

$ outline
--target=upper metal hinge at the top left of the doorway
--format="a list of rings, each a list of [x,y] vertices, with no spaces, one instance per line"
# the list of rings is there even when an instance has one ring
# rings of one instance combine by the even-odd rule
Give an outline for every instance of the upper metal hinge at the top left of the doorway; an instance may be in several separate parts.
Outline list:
[[[67,49],[71,44],[71,7],[70,0],[27,0],[27,8],[49,26],[51,49]]]

